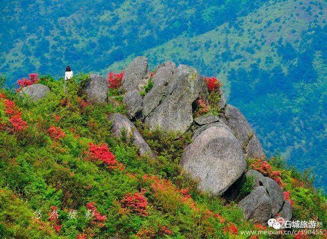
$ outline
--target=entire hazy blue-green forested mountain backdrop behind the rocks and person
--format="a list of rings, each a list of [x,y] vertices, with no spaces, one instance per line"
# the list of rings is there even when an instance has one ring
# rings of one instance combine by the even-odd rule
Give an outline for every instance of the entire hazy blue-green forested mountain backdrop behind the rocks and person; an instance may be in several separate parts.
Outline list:
[[[327,185],[326,1],[2,1],[0,72],[122,70],[145,55],[224,82],[268,154]]]

